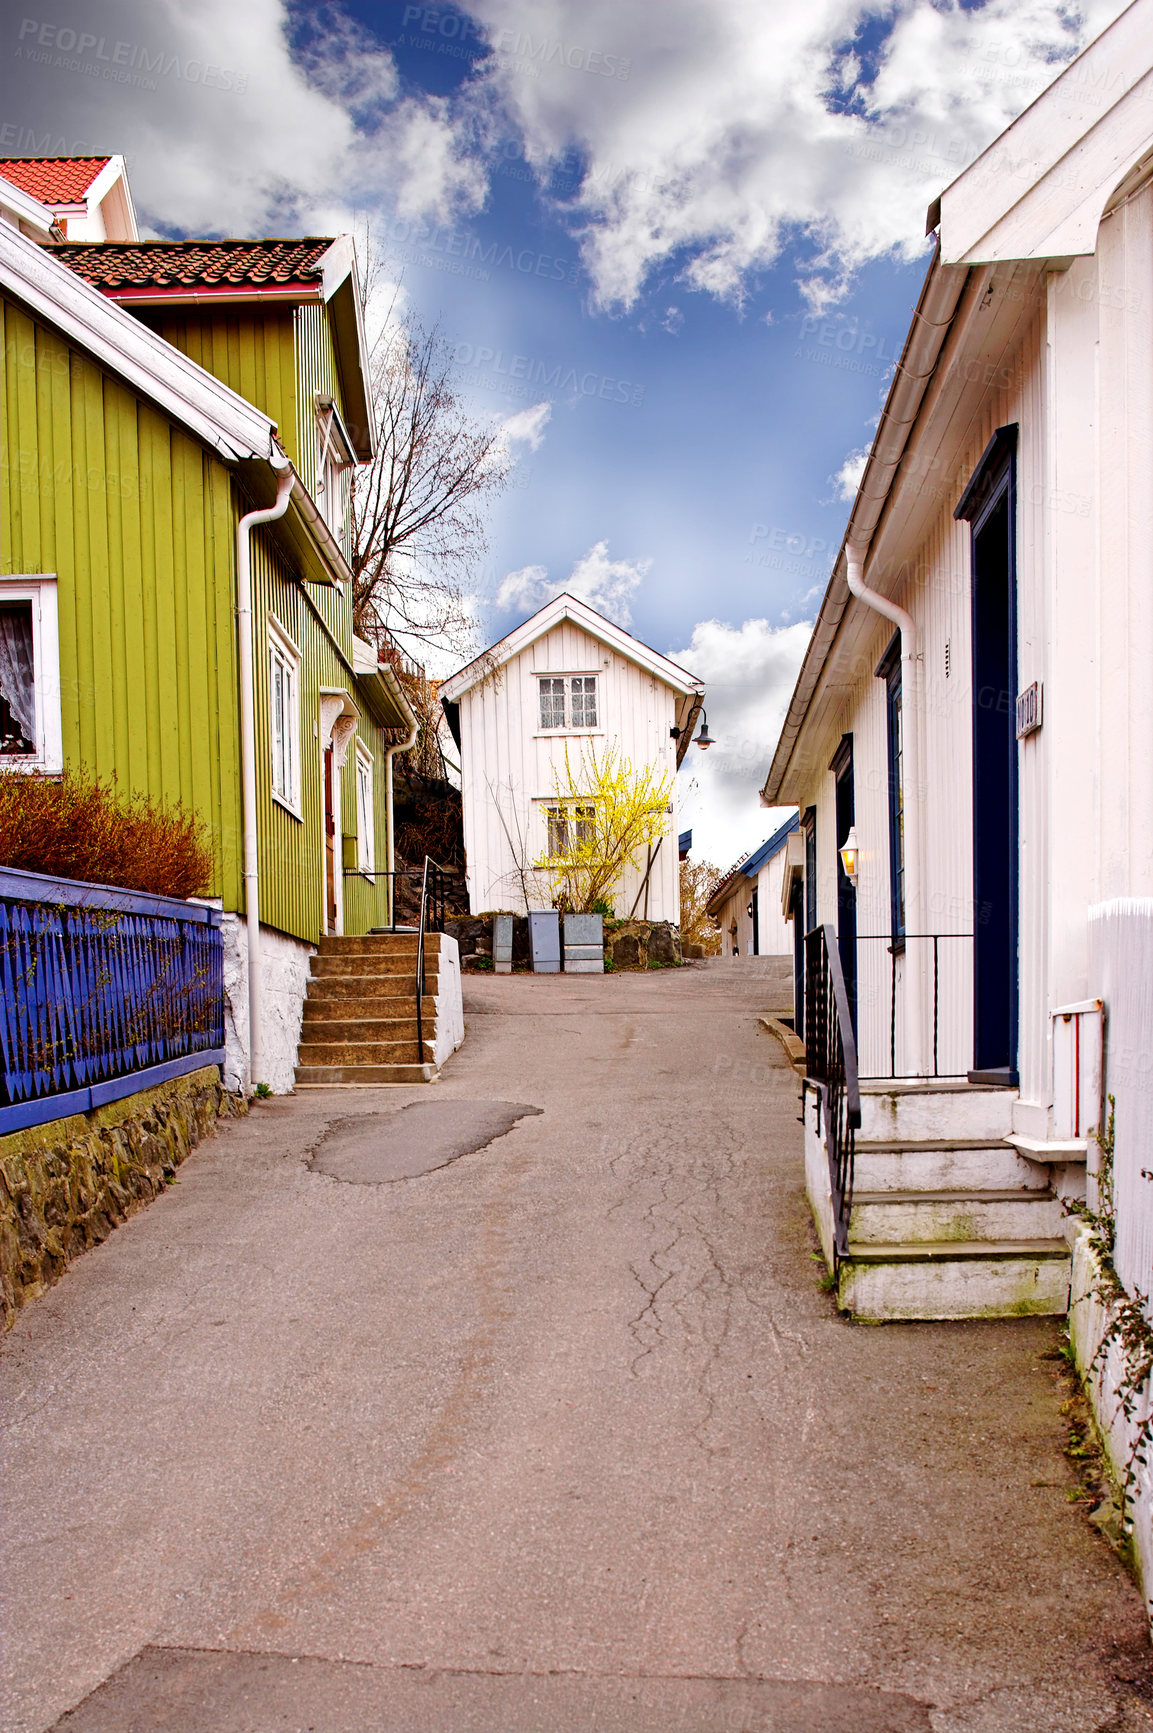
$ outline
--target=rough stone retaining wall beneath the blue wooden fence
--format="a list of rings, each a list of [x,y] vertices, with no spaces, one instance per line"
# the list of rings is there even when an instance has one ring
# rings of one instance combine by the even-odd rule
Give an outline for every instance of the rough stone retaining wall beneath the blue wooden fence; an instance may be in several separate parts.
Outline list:
[[[220,1116],[246,1113],[217,1066],[0,1137],[0,1307],[17,1310],[165,1189]]]

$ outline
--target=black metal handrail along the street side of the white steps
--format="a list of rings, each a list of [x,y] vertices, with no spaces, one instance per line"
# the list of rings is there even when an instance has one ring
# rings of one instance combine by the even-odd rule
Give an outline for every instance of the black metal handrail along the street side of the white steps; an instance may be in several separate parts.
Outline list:
[[[837,934],[831,924],[804,934],[804,1069],[808,1080],[817,1085],[818,1133],[824,1113],[836,1267],[850,1249],[860,1081],[850,996]]]

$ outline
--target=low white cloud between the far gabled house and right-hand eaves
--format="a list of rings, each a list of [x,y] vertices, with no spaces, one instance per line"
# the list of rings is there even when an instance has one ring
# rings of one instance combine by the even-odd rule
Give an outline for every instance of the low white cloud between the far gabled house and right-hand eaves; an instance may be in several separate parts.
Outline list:
[[[765,785],[780,724],[796,685],[811,624],[702,620],[673,660],[706,685],[714,745],[688,749],[681,766],[680,823],[692,827],[694,854],[728,866],[768,837],[780,816],[765,811]]]

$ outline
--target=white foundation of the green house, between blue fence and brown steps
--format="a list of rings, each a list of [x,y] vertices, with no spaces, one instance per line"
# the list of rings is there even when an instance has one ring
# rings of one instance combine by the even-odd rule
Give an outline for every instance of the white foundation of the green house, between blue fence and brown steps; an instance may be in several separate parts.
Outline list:
[[[224,938],[224,1083],[246,1090],[267,1083],[274,1095],[291,1092],[309,962],[314,944],[291,939],[274,927],[260,927],[260,974],[264,979],[264,1076],[248,1076],[248,929],[241,915],[225,915]],[[456,941],[453,941],[456,943]],[[459,967],[459,965],[458,965]],[[458,986],[459,996],[459,986]]]

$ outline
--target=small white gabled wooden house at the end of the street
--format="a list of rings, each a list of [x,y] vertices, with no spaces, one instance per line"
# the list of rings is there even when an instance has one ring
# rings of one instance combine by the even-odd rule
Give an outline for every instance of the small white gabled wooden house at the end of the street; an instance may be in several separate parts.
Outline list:
[[[557,775],[565,754],[616,749],[657,776],[676,771],[704,686],[576,596],[537,613],[440,686],[461,754],[468,903],[473,913],[550,906],[532,863],[555,847],[565,815]],[[616,889],[626,917],[680,922],[676,789],[664,834]]]

